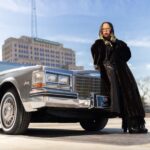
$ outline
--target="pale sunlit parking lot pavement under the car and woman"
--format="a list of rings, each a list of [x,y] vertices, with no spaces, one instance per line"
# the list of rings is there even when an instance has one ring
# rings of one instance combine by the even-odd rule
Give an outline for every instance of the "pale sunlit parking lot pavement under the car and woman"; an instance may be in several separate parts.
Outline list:
[[[85,132],[78,123],[30,124],[24,135],[5,135],[0,130],[0,150],[149,150],[149,117],[146,122],[148,134],[124,134],[118,118],[110,119],[105,129],[100,132]]]

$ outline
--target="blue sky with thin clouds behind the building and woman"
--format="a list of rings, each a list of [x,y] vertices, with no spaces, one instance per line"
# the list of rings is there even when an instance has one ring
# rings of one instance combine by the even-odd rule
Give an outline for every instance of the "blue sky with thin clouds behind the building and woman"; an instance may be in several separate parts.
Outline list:
[[[136,78],[150,76],[149,0],[36,0],[36,3],[38,37],[73,49],[77,65],[93,69],[91,44],[98,38],[100,24],[110,21],[117,38],[131,48],[128,64]],[[31,0],[1,0],[0,45],[8,37],[22,35],[31,36]]]

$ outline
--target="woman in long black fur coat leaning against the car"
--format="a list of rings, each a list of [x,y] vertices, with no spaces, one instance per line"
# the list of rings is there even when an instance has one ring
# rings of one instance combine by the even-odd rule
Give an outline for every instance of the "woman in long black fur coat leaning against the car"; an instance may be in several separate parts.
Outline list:
[[[122,128],[129,133],[147,133],[145,112],[135,79],[127,65],[131,57],[125,42],[116,39],[110,22],[102,23],[100,39],[91,47],[95,68],[109,91],[111,111],[122,117]]]

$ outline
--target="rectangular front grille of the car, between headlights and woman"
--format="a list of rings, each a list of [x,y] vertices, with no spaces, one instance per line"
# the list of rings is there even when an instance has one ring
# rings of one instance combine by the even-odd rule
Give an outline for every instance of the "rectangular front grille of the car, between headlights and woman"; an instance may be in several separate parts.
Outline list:
[[[75,76],[75,92],[79,94],[79,98],[89,98],[90,93],[100,94],[100,78],[91,76]]]

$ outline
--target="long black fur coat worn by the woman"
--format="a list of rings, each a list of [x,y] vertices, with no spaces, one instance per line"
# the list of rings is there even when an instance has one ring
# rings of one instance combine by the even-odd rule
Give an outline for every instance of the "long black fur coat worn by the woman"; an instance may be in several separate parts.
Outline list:
[[[130,49],[121,40],[112,45],[106,46],[99,39],[91,47],[94,65],[100,69],[101,79],[109,91],[111,111],[126,117],[144,117],[138,87],[127,65],[131,57]]]

